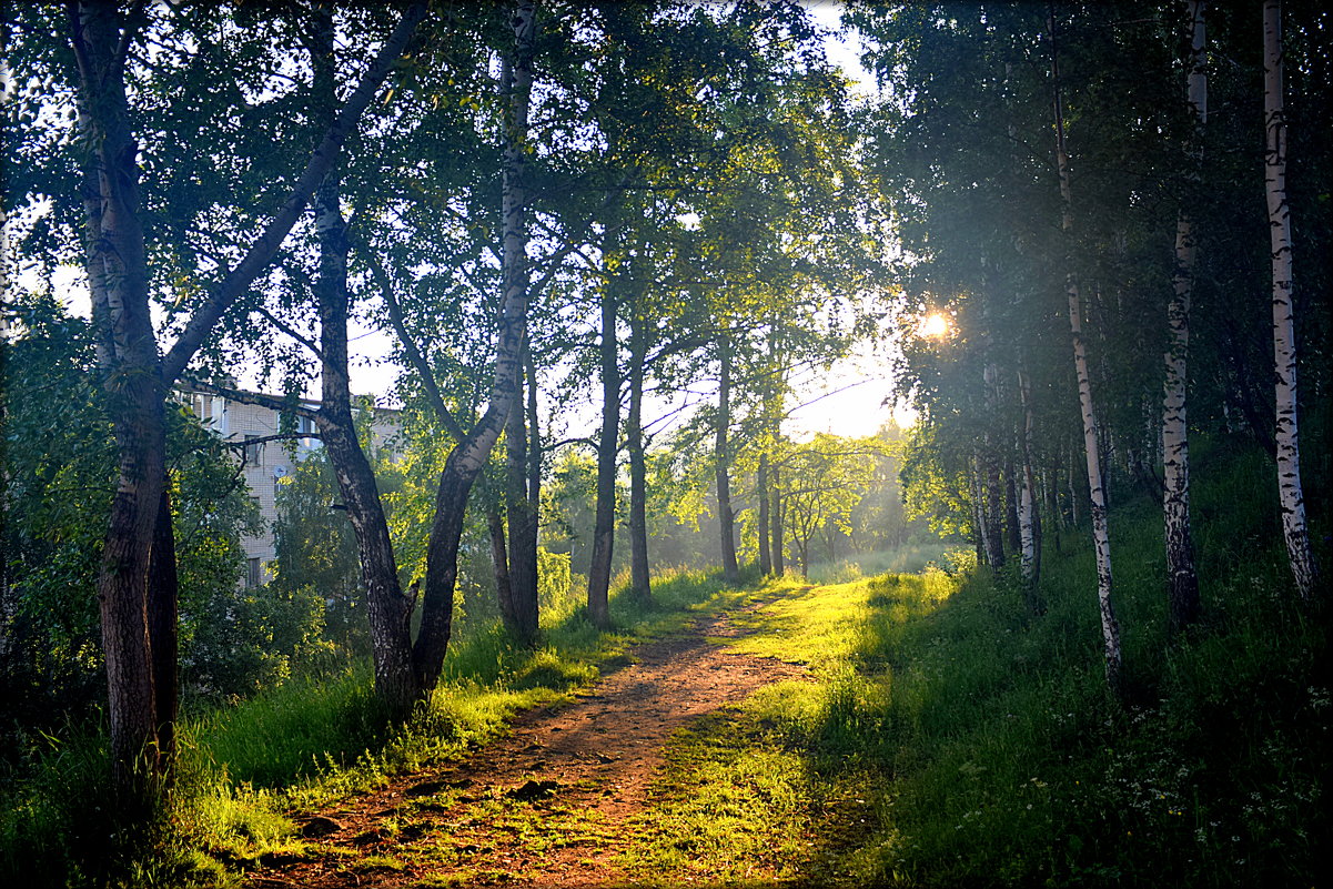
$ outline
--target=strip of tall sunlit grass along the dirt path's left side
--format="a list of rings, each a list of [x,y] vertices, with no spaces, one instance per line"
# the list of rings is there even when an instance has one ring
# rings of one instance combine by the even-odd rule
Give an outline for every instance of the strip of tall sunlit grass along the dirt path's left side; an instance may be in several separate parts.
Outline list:
[[[724,584],[678,572],[644,606],[613,594],[599,632],[573,596],[543,614],[536,648],[499,625],[456,641],[440,686],[405,725],[377,705],[368,664],[297,678],[187,716],[173,802],[141,829],[120,825],[104,726],[72,726],[0,776],[0,885],[223,886],[299,844],[288,813],[331,804],[484,744],[516,710],[596,680],[645,636],[680,626]]]

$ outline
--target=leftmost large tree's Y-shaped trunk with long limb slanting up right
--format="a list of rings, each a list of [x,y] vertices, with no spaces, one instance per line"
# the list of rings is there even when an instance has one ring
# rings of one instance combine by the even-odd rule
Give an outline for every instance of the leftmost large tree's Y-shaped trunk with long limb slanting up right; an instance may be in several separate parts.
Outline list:
[[[108,412],[116,428],[120,481],[112,504],[97,582],[116,780],[136,798],[147,798],[149,773],[168,773],[172,762],[175,688],[175,572],[163,564],[165,536],[159,530],[164,502],[163,405],[171,385],[204,345],[221,316],[268,268],[283,239],[361,112],[403,53],[425,4],[411,7],[344,103],[304,172],[244,257],[231,267],[181,327],[165,353],[149,313],[151,271],[141,220],[139,147],[127,92],[149,11],[123,12],[111,3],[71,4],[69,45],[79,105],[79,131],[87,149],[84,213],[85,271],[99,328],[99,359]],[[155,556],[157,568],[155,569]]]

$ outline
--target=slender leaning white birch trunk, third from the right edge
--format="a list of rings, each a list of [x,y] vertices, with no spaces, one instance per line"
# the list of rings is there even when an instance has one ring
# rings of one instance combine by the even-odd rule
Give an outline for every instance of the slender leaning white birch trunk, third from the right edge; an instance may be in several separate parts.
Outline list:
[[[1060,63],[1056,55],[1056,13],[1050,7],[1050,80],[1054,100],[1052,103],[1056,124],[1056,161],[1060,169],[1060,199],[1062,207],[1061,228],[1066,245],[1072,249],[1073,195],[1069,184],[1069,155],[1065,151],[1065,121],[1060,100]],[[1121,692],[1124,656],[1120,646],[1120,622],[1110,601],[1110,529],[1106,521],[1106,492],[1102,488],[1101,457],[1097,450],[1097,415],[1093,409],[1092,379],[1088,375],[1088,352],[1082,336],[1082,299],[1078,289],[1078,276],[1073,269],[1073,257],[1066,256],[1065,293],[1069,300],[1069,336],[1073,341],[1074,373],[1078,377],[1078,404],[1082,408],[1084,453],[1088,462],[1088,488],[1092,505],[1093,548],[1097,553],[1097,605],[1101,614],[1102,650],[1106,668],[1106,685]]]

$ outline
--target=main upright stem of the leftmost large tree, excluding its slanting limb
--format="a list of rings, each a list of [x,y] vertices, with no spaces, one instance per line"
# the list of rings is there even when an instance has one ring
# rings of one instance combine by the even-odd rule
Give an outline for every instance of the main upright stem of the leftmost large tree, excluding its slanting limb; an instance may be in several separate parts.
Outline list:
[[[147,814],[153,773],[169,769],[157,748],[160,720],[151,648],[148,584],[165,480],[163,384],[148,308],[148,261],[139,219],[139,145],[129,131],[125,55],[129,27],[112,4],[71,7],[79,64],[79,129],[88,145],[85,263],[97,324],[107,416],[119,478],[97,577],[107,658],[111,754],[131,817]],[[127,33],[121,33],[125,27]],[[169,516],[168,516],[169,521]],[[175,600],[175,590],[157,590]],[[155,596],[155,606],[161,596]]]

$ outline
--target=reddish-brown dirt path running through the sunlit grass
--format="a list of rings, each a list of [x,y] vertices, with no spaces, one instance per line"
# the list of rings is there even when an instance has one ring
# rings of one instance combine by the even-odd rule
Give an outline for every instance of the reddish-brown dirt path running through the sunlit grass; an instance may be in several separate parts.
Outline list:
[[[249,886],[607,886],[663,748],[698,717],[804,669],[730,652],[725,616],[633,652],[573,702],[521,714],[468,760],[312,817],[308,853]]]

